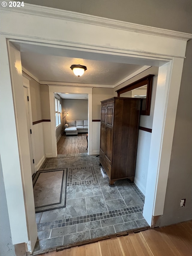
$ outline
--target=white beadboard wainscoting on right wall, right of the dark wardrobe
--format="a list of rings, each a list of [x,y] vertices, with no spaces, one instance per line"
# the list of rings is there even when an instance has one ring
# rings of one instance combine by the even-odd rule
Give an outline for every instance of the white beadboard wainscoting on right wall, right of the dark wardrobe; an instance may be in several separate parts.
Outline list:
[[[150,145],[151,133],[139,130],[134,182],[144,195],[146,193]]]

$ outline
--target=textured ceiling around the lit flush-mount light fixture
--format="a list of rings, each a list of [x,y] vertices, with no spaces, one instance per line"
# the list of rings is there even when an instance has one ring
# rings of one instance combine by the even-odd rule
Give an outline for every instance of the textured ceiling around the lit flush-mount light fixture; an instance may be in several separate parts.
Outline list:
[[[50,56],[30,52],[21,52],[21,63],[24,68],[40,81],[98,85],[115,85],[142,67],[141,65]],[[87,67],[81,77],[73,74],[70,69],[73,64]]]

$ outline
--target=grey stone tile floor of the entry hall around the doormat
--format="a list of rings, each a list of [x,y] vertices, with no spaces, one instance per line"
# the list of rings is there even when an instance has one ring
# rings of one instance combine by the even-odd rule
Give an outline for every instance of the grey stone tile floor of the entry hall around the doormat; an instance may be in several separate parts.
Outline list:
[[[36,213],[38,241],[33,255],[87,239],[148,226],[144,195],[135,184],[118,180],[109,187],[99,159],[87,153],[46,158],[40,170],[67,167],[66,207]]]

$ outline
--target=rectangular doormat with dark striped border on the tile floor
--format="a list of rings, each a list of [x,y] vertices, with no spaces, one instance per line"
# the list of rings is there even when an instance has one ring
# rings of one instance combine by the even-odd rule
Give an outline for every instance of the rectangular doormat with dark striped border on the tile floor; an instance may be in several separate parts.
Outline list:
[[[37,171],[33,178],[35,212],[66,206],[67,168]]]

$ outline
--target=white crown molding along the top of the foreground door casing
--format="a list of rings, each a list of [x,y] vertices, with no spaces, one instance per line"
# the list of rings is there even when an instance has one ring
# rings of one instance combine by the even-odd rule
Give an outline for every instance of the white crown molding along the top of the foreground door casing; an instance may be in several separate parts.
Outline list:
[[[6,2],[8,3],[9,1],[6,0]],[[178,32],[178,31],[173,31],[169,29],[161,29],[161,28],[156,28],[156,27],[151,27],[146,25],[140,25],[136,23],[113,20],[113,19],[108,19],[104,17],[97,17],[89,14],[82,14],[82,13],[77,13],[73,11],[60,10],[60,9],[50,8],[50,7],[40,6],[40,5],[32,5],[32,4],[25,3],[25,8],[6,8],[3,10],[1,9],[1,11],[12,11],[12,12],[43,16],[43,17],[49,17],[54,19],[60,19],[60,20],[68,20],[68,21],[79,22],[79,23],[88,23],[88,24],[97,25],[97,26],[110,27],[113,29],[121,29],[121,30],[126,30],[131,32],[138,32],[138,33],[143,33],[148,35],[156,35],[156,36],[180,39],[185,41],[192,39],[192,34],[190,33]]]

